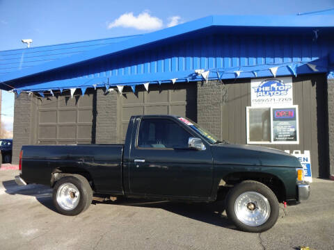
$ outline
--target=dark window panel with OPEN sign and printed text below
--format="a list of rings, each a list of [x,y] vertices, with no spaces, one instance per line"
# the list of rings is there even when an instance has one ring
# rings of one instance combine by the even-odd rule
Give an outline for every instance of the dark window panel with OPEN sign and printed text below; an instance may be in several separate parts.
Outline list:
[[[297,108],[272,108],[272,142],[298,142]]]

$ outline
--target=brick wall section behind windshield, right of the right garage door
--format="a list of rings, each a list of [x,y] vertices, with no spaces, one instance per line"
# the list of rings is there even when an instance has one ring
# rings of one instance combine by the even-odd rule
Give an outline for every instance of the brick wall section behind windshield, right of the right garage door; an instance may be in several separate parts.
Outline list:
[[[221,135],[221,103],[223,85],[219,82],[199,82],[197,88],[197,122],[210,133]]]

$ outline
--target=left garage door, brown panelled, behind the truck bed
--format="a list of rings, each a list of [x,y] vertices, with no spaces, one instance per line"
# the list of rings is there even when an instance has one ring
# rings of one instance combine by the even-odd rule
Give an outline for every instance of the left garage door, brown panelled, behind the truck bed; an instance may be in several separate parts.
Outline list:
[[[92,142],[93,94],[38,100],[37,144]]]

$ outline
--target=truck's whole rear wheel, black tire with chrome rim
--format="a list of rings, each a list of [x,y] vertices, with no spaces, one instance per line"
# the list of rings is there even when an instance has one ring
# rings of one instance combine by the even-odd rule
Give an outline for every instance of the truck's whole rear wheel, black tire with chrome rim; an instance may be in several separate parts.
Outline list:
[[[56,182],[52,199],[62,215],[79,215],[92,203],[93,190],[84,176],[73,174]]]

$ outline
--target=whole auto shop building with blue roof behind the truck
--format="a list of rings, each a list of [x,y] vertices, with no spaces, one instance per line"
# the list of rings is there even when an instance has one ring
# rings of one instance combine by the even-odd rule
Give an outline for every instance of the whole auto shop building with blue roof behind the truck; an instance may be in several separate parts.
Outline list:
[[[0,68],[1,88],[17,93],[14,163],[22,144],[122,143],[131,115],[170,114],[230,143],[310,151],[312,176],[328,178],[331,20],[205,17],[146,35],[1,51],[13,65],[26,56],[21,69]]]

